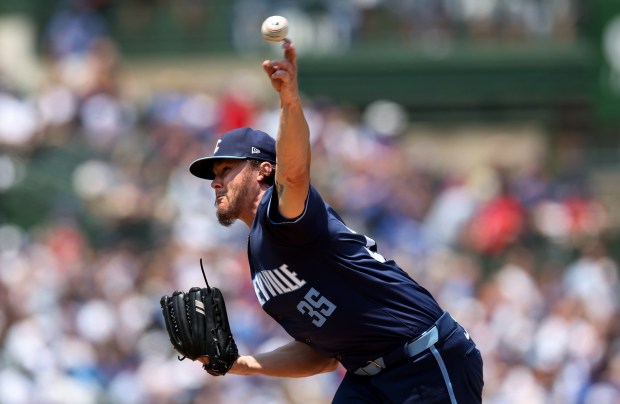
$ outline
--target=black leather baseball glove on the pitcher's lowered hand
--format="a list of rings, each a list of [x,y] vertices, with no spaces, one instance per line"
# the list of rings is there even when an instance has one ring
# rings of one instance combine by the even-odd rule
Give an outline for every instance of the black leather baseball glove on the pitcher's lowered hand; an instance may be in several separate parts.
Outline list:
[[[223,376],[239,357],[233,339],[224,296],[217,288],[193,287],[188,293],[175,291],[160,300],[170,342],[182,357],[208,358],[202,367],[209,374]]]

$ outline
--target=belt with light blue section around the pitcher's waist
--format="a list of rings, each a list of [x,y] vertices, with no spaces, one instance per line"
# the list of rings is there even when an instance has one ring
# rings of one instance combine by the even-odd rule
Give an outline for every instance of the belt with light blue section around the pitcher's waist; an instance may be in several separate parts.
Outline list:
[[[407,342],[403,346],[388,352],[380,358],[368,361],[366,366],[360,367],[353,373],[360,376],[374,376],[398,362],[402,362],[407,358],[424,352],[439,341],[440,333],[443,334],[446,331],[448,322],[456,324],[452,316],[445,312],[431,328],[424,331],[418,338]]]

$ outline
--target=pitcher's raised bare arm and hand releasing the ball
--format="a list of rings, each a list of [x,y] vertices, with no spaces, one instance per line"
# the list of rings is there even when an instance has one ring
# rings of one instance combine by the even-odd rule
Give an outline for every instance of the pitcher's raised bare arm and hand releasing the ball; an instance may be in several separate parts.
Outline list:
[[[288,219],[303,213],[310,187],[310,130],[297,86],[297,52],[288,39],[284,58],[266,60],[263,69],[280,94],[280,127],[276,139],[276,177],[280,214]]]

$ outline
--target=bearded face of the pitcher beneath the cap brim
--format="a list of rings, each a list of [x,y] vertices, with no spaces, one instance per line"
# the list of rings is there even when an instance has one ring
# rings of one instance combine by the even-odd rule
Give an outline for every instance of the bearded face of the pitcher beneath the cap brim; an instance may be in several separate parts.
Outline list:
[[[213,165],[213,172],[211,187],[215,190],[217,220],[223,226],[230,226],[252,206],[254,170],[247,160],[223,160]]]

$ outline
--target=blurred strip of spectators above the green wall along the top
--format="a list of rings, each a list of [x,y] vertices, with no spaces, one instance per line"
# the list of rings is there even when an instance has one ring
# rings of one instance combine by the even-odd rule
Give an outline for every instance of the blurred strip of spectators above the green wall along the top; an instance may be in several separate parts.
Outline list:
[[[589,5],[584,0],[60,0],[50,16],[49,33],[62,35],[55,51],[81,46],[79,31],[133,38],[142,52],[166,48],[222,49],[231,43],[240,53],[265,48],[257,27],[266,16],[284,15],[300,49],[334,52],[386,42],[427,45],[445,51],[454,46],[553,42],[578,39]],[[47,15],[46,7],[37,6]],[[47,7],[49,8],[49,7]],[[217,28],[215,28],[217,27]],[[162,44],[152,44],[156,37]],[[203,42],[191,44],[188,42]],[[140,52],[140,46],[133,48]]]

